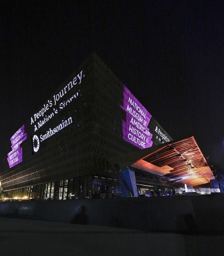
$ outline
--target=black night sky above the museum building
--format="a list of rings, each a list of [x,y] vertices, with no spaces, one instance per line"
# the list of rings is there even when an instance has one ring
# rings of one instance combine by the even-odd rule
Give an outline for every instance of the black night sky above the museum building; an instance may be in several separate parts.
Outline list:
[[[173,139],[224,162],[224,1],[1,1],[5,144],[95,51]]]

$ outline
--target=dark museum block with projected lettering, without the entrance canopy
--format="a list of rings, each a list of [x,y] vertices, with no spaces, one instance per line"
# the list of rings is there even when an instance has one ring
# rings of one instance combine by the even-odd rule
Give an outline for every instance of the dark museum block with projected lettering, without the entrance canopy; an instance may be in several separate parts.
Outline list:
[[[9,199],[119,195],[107,159],[170,140],[92,54],[9,138],[0,181]]]

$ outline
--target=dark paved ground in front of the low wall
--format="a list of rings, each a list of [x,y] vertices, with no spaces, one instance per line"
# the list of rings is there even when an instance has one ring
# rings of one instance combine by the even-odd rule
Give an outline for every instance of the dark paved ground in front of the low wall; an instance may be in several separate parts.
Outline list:
[[[0,218],[0,255],[224,256],[224,235],[145,233]]]

